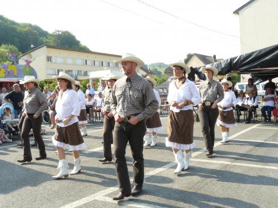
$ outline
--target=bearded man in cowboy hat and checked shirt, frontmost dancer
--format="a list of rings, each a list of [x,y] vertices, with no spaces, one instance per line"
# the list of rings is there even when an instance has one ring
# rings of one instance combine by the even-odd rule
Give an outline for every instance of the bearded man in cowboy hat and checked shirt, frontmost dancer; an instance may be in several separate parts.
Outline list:
[[[114,200],[141,193],[144,182],[143,137],[146,132],[145,120],[158,109],[151,84],[136,73],[136,67],[144,62],[132,54],[125,54],[115,61],[122,65],[125,75],[117,80],[111,92],[111,112],[115,118],[114,157],[120,193]],[[131,191],[125,160],[125,148],[130,144],[133,157],[134,188]]]

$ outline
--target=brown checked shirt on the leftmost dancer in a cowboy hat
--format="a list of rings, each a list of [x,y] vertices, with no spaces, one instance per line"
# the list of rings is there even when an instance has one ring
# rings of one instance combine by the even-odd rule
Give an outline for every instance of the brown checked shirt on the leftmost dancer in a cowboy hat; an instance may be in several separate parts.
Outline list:
[[[26,114],[36,114],[39,116],[48,108],[47,98],[36,87],[25,91],[23,103]]]

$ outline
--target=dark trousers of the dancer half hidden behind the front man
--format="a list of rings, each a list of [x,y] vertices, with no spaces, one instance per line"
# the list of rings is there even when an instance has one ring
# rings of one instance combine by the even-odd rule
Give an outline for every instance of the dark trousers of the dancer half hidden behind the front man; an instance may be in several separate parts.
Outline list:
[[[114,117],[105,116],[103,121],[103,155],[107,159],[112,159],[111,143],[113,143],[114,126]]]

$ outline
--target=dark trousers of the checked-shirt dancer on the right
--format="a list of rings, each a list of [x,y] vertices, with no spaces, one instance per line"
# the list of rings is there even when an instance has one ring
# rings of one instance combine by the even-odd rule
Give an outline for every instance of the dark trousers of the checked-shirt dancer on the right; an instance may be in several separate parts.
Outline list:
[[[214,127],[219,115],[218,108],[212,109],[211,106],[205,107],[205,109],[199,108],[198,115],[201,122],[201,128],[203,133],[203,138],[205,141],[207,151],[213,151],[214,146]]]

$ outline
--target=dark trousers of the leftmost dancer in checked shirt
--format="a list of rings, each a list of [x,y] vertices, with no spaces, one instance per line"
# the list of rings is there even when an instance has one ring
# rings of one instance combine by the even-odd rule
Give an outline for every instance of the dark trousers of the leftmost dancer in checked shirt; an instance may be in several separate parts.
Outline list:
[[[33,129],[34,137],[36,138],[36,142],[38,145],[39,155],[41,156],[47,155],[47,153],[45,152],[44,142],[40,135],[42,116],[39,115],[39,117],[36,119],[34,119],[33,116],[34,114],[28,114],[24,117],[24,121],[22,124],[22,131],[20,132],[21,138],[23,140],[23,149],[24,149],[23,158],[27,160],[32,159],[30,141],[28,135],[30,129]]]

